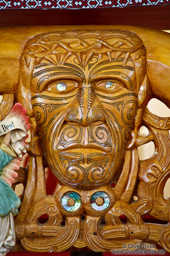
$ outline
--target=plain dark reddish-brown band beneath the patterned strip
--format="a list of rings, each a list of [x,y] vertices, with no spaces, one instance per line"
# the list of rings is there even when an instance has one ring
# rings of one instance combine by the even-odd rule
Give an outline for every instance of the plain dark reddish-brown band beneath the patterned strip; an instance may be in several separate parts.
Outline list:
[[[0,27],[34,25],[131,25],[170,29],[170,5],[79,10],[0,10]]]

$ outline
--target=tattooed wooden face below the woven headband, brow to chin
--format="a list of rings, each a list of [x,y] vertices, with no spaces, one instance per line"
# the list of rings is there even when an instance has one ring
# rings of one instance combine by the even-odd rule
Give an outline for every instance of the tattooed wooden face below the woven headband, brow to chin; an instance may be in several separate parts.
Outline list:
[[[93,189],[120,170],[138,106],[131,58],[75,57],[34,68],[31,102],[40,144],[61,183]]]

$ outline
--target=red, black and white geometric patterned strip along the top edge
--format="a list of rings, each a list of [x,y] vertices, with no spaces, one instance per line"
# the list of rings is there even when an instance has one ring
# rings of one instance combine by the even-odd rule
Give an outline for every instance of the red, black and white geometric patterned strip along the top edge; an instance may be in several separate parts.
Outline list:
[[[93,9],[170,5],[170,0],[0,0],[0,9]]]

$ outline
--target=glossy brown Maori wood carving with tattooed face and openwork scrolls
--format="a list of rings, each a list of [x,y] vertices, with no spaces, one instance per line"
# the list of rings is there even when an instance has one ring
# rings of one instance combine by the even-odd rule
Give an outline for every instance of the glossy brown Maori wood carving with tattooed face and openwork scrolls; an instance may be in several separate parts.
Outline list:
[[[163,49],[170,38],[112,27],[35,28],[25,41],[18,84],[9,85],[31,124],[15,251],[111,252],[147,243],[170,252],[170,200],[163,195],[170,177],[170,118],[147,109],[153,97],[170,106]],[[1,116],[13,106],[13,94],[5,93],[2,86]],[[139,135],[143,125],[146,137]],[[140,161],[137,147],[150,141],[155,153]],[[54,196],[46,195],[46,167],[61,185]],[[40,224],[43,214],[49,218]],[[167,224],[145,223],[146,215]]]

